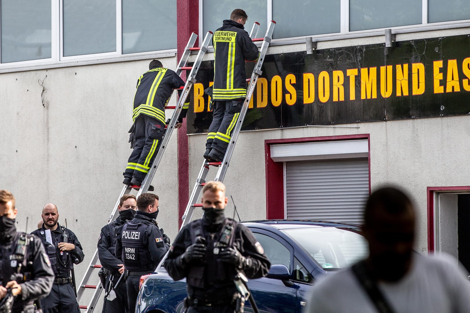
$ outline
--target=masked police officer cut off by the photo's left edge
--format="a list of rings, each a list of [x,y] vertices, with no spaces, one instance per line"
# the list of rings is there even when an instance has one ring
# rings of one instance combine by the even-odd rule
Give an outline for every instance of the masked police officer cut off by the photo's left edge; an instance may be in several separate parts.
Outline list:
[[[51,290],[54,272],[39,238],[16,231],[16,213],[15,197],[0,190],[0,310],[33,313],[34,302]]]

